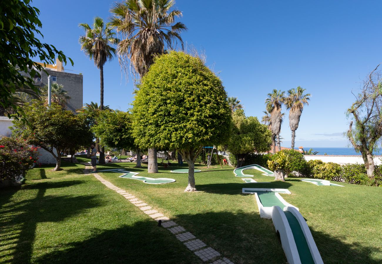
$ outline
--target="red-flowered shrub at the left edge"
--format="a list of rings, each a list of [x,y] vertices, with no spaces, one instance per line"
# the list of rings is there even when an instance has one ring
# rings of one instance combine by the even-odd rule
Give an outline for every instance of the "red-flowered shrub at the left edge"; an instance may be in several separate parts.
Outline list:
[[[15,180],[37,161],[37,147],[29,146],[24,140],[3,137],[0,139],[0,180]]]

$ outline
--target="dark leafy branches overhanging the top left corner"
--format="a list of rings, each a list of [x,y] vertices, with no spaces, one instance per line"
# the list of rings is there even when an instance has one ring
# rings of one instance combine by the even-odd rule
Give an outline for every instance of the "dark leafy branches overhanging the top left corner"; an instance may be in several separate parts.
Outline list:
[[[17,89],[28,87],[39,94],[33,78],[44,67],[33,60],[39,58],[42,63],[54,64],[57,54],[58,60],[66,63],[62,51],[37,39],[37,35],[42,36],[40,11],[30,3],[30,0],[2,1],[0,8],[0,108],[13,108],[18,114],[22,108],[12,100]]]

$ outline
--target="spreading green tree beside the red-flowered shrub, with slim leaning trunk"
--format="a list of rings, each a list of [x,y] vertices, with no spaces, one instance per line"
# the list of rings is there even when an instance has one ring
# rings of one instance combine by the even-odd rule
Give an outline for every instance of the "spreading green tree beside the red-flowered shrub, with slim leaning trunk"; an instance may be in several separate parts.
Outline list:
[[[14,120],[13,135],[50,152],[57,161],[54,171],[60,169],[62,151],[92,141],[93,135],[84,116],[76,116],[56,103],[47,108],[42,102],[35,101],[24,107],[24,113],[27,122]]]

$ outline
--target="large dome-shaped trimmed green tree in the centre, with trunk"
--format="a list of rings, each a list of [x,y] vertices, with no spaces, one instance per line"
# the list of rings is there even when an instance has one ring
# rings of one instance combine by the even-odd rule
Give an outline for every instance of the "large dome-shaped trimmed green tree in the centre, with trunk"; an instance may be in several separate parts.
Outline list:
[[[155,59],[133,102],[133,137],[141,148],[179,150],[195,191],[194,163],[203,146],[228,140],[231,109],[222,81],[199,58],[170,52]]]

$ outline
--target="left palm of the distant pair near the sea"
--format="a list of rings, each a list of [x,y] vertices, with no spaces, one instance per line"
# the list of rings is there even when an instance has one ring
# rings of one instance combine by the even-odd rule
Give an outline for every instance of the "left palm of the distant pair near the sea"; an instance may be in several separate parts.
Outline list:
[[[268,98],[265,99],[267,111],[270,112],[270,130],[272,132],[273,153],[276,153],[276,137],[280,134],[281,131],[281,123],[283,118],[281,113],[281,106],[284,100],[285,92],[276,89],[274,89],[272,93],[268,93]]]

